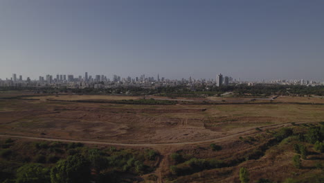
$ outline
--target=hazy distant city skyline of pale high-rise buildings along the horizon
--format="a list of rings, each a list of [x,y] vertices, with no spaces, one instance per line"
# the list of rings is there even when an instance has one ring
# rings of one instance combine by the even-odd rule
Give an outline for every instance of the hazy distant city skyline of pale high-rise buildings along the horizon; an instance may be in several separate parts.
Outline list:
[[[307,85],[307,86],[317,86],[324,85],[324,82],[314,81],[314,80],[269,80],[269,81],[242,81],[240,78],[233,79],[231,76],[223,76],[221,73],[217,74],[215,79],[195,79],[191,78],[182,78],[181,80],[177,79],[168,79],[165,77],[160,77],[157,74],[157,77],[146,77],[145,74],[131,78],[121,78],[120,76],[114,75],[111,79],[107,78],[105,75],[94,75],[90,76],[87,72],[84,73],[84,76],[66,75],[66,74],[57,74],[56,77],[52,75],[39,76],[38,80],[31,80],[29,77],[26,79],[23,76],[17,73],[12,74],[12,78],[6,78],[6,80],[0,79],[0,87],[57,87],[57,88],[114,88],[114,87],[143,87],[143,88],[158,88],[158,87],[176,87],[178,85],[188,85],[188,86],[197,86],[197,85],[206,85],[206,86],[228,86],[228,85],[240,85],[245,84],[249,86],[260,85],[260,84],[272,84],[272,85]]]

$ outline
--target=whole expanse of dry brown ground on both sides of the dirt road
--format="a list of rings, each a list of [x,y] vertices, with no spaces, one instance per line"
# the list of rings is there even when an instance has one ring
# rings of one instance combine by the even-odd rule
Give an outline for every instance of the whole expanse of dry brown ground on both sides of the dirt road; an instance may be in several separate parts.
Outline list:
[[[290,127],[298,134],[324,121],[324,105],[303,104],[311,100],[308,98],[279,99],[288,103],[131,105],[73,102],[129,100],[129,96],[33,97],[41,100],[0,99],[0,139],[15,139],[13,150],[25,146],[25,142],[42,140],[50,141],[49,144],[51,141],[86,143],[100,149],[116,146],[158,150],[161,157],[154,159],[155,162],[143,160],[156,170],[132,175],[134,182],[240,182],[238,172],[242,166],[249,169],[253,182],[260,178],[276,182],[287,177],[305,180],[307,176],[308,180],[314,180],[323,175],[323,170],[314,168],[316,163],[324,163],[323,154],[314,150],[314,145],[300,142],[296,137],[273,139],[282,127]],[[47,98],[62,101],[46,101]],[[321,100],[314,98],[314,103]],[[210,143],[217,143],[222,150],[210,150]],[[303,143],[309,150],[307,159],[302,161],[303,168],[296,169],[291,162],[296,154],[293,143]],[[24,150],[27,152],[28,148]],[[66,153],[57,156],[66,158]],[[183,159],[174,162],[170,158],[172,153]],[[20,156],[14,155],[6,164]],[[190,169],[188,164],[192,159],[204,159],[201,161],[205,163],[218,159],[224,164],[213,162],[213,166]],[[171,166],[178,171],[172,173]],[[149,175],[156,176],[156,180],[150,180]]]

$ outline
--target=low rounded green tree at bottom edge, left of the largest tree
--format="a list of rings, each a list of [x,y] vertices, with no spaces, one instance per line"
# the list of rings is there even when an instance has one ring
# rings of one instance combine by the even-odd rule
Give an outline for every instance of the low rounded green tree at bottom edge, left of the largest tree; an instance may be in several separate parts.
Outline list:
[[[50,182],[49,170],[40,164],[25,164],[17,170],[16,183]]]

